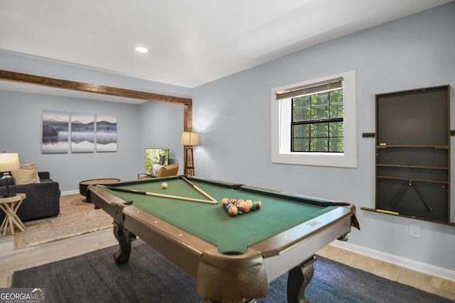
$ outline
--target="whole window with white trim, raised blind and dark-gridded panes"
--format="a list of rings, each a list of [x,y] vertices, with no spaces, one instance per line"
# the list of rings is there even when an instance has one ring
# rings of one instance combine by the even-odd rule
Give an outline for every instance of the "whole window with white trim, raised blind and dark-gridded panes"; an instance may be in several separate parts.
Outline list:
[[[356,167],[355,72],[272,89],[272,162]]]

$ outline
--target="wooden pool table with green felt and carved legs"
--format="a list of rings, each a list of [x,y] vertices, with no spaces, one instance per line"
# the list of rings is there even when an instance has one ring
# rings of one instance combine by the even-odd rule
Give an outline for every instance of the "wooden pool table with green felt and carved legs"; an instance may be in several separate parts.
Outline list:
[[[210,200],[195,187],[218,203],[202,202]],[[220,203],[223,197],[260,200],[262,207],[230,216]],[[198,177],[90,186],[87,201],[114,219],[118,264],[129,260],[131,242],[139,236],[194,277],[198,293],[210,302],[263,297],[269,282],[285,272],[288,302],[306,302],[304,290],[314,273],[316,251],[335,239],[346,240],[351,226],[359,228],[355,206],[345,202]]]

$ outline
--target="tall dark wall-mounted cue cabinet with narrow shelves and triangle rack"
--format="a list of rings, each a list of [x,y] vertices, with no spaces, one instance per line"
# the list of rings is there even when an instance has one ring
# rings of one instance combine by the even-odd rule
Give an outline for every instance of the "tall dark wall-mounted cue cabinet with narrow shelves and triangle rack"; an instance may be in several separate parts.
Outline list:
[[[376,95],[376,211],[449,222],[449,88]]]

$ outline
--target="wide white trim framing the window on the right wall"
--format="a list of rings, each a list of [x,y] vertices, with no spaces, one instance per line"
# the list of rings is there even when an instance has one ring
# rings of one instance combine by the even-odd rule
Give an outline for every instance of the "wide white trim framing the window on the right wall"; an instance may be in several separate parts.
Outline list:
[[[295,153],[291,152],[291,98],[277,100],[275,92],[289,87],[321,82],[343,77],[343,153]],[[316,165],[330,167],[357,167],[355,141],[355,71],[342,72],[305,82],[272,89],[272,163]]]

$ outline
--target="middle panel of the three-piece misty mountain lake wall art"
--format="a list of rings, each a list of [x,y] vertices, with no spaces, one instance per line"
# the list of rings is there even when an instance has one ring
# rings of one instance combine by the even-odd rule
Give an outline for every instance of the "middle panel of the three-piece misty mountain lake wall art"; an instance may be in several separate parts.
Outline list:
[[[95,114],[71,113],[71,153],[95,151]]]

